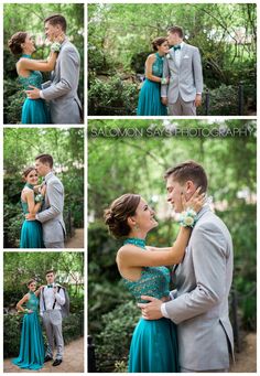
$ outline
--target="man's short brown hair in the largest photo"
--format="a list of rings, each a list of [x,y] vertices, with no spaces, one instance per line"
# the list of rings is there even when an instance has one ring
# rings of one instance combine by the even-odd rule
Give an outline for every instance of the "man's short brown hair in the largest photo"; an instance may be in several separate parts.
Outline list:
[[[169,169],[164,179],[172,176],[177,183],[185,184],[188,180],[193,181],[198,187],[202,186],[201,193],[207,191],[207,175],[204,168],[195,161],[186,161]]]

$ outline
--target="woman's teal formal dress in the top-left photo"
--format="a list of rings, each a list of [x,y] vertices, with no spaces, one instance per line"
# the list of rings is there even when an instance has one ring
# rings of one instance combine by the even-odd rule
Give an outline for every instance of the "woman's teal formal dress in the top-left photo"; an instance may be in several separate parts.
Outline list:
[[[31,58],[30,55],[22,55],[22,57]],[[32,71],[29,77],[19,76],[19,80],[24,90],[30,90],[30,85],[42,88],[42,73]],[[51,123],[50,112],[44,99],[26,98],[22,106],[22,123]]]

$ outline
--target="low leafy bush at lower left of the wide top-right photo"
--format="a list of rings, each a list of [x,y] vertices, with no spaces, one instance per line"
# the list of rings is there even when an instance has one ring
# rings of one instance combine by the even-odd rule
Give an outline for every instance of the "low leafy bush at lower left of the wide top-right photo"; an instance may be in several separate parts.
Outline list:
[[[89,115],[136,115],[138,86],[123,82],[120,76],[102,82],[93,78],[88,90]]]

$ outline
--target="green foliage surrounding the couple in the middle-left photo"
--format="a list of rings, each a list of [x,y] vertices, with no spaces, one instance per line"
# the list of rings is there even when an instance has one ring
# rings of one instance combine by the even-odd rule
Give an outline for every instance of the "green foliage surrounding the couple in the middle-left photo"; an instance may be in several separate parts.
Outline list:
[[[64,221],[68,236],[84,227],[84,130],[19,128],[4,130],[4,247],[19,247],[23,222],[22,171],[40,153],[50,153],[65,189]]]

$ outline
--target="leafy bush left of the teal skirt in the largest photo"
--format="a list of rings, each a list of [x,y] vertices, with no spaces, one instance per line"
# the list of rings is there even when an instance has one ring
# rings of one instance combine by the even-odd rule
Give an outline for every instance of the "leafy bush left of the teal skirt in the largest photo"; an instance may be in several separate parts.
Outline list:
[[[126,370],[132,332],[139,318],[140,311],[132,301],[102,315],[104,329],[96,339],[99,372]]]

